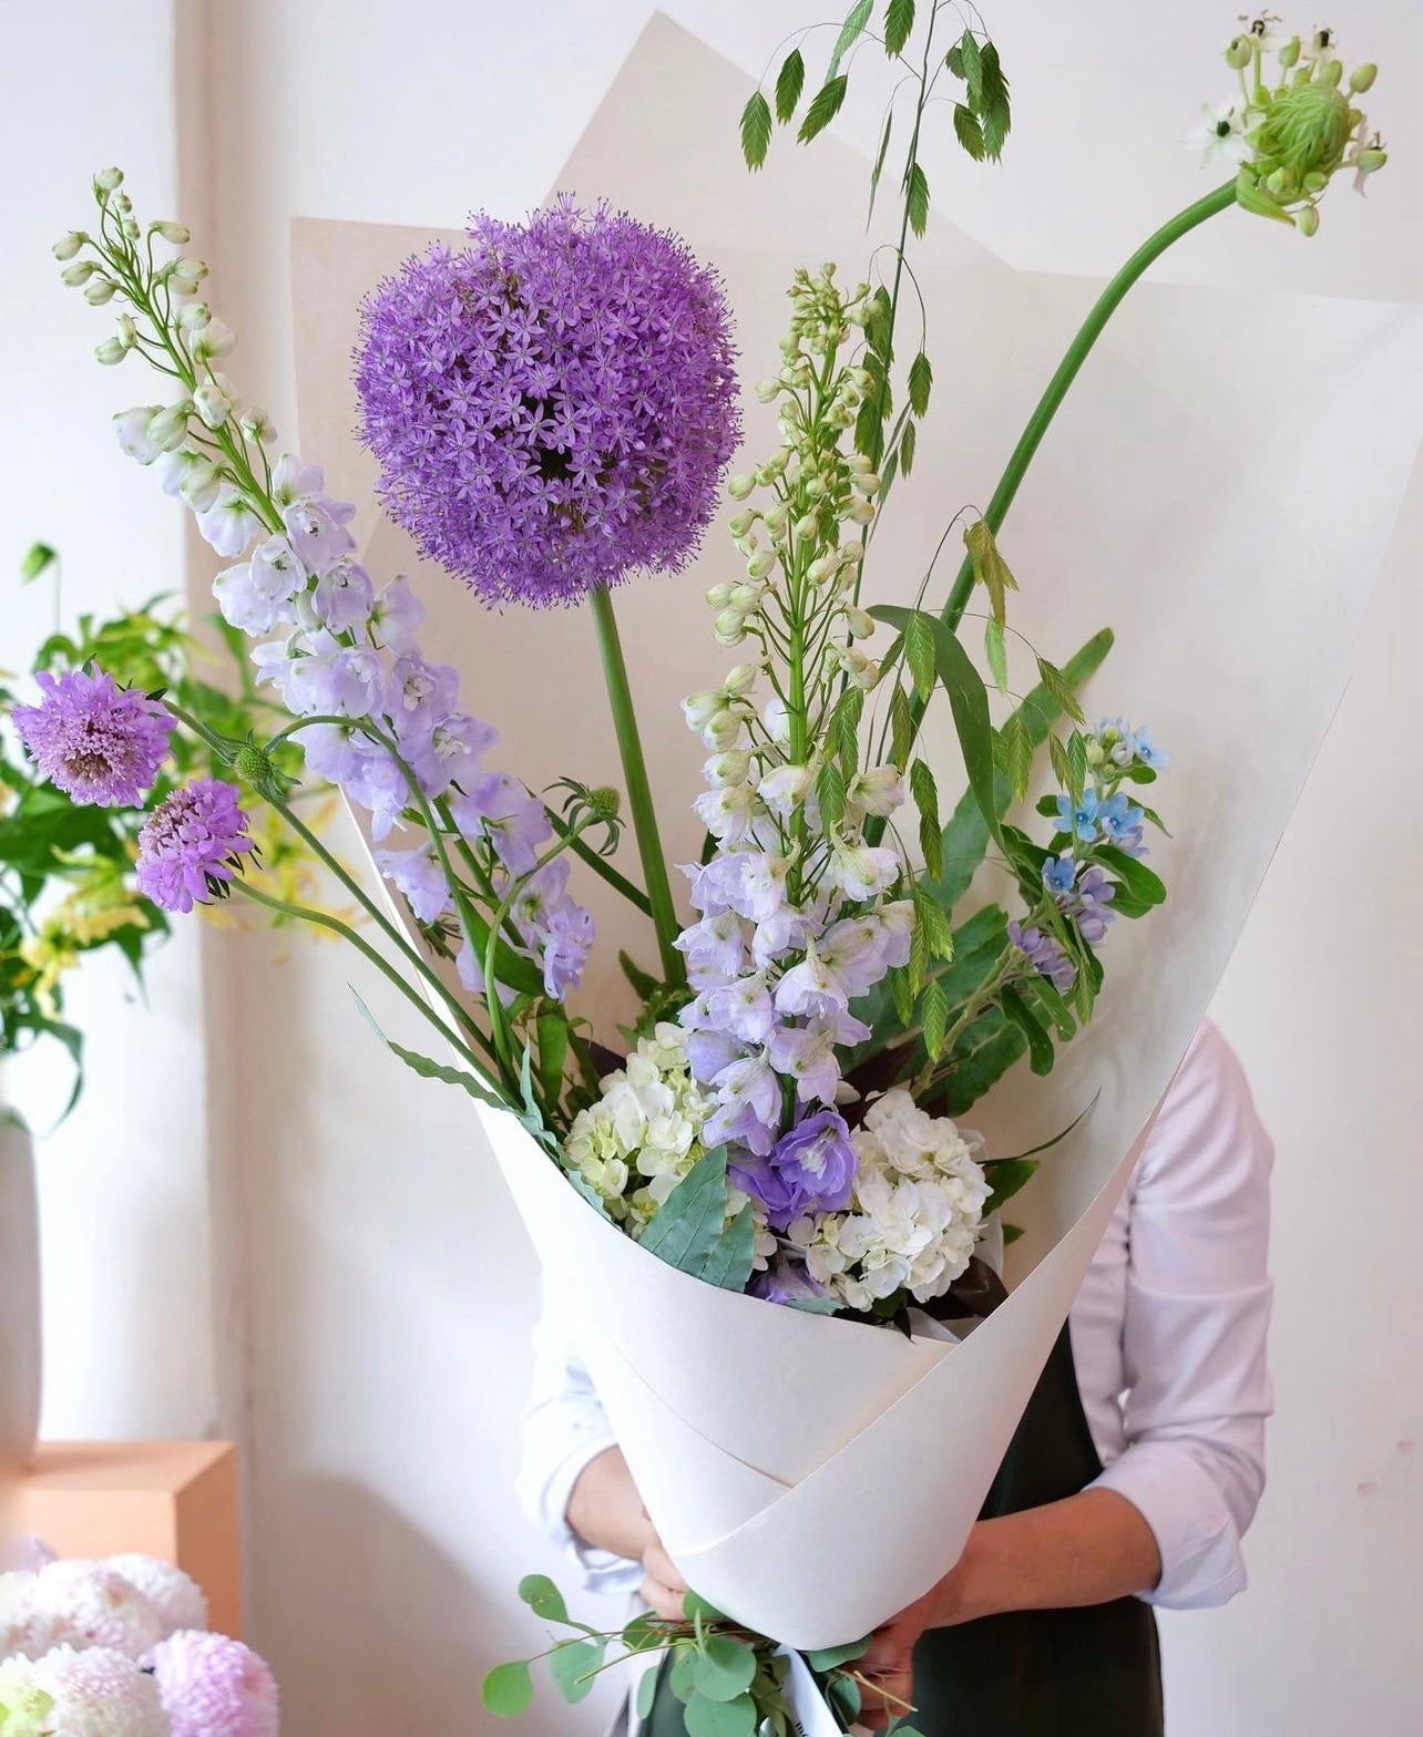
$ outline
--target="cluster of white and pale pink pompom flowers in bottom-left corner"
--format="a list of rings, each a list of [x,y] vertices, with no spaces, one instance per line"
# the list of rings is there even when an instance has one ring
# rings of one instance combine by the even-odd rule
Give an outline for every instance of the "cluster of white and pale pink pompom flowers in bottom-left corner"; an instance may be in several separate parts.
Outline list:
[[[155,1556],[0,1574],[3,1737],[276,1737],[276,1683],[240,1640],[207,1629],[207,1600]]]

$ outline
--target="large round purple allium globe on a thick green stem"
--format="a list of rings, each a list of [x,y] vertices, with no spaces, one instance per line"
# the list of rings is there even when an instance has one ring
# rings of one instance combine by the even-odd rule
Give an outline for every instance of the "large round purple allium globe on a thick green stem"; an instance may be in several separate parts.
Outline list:
[[[469,234],[361,309],[386,511],[490,604],[679,570],[740,434],[718,276],[674,234],[568,198]]]

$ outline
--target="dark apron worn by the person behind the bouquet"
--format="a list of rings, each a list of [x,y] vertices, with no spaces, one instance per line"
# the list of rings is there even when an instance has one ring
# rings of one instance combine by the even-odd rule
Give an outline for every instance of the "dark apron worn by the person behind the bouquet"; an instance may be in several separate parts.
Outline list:
[[[1100,1471],[1063,1325],[982,1516],[1076,1496]],[[1117,1598],[930,1629],[914,1648],[914,1706],[924,1737],[1162,1737],[1155,1615]],[[685,1732],[664,1673],[646,1737]]]

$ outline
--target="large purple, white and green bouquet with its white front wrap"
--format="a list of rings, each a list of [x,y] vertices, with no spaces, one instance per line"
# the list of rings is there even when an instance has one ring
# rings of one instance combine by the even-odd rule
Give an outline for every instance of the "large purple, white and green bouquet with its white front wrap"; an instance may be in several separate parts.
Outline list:
[[[526,224],[474,217],[467,247],[410,259],[363,306],[361,438],[389,516],[486,604],[592,615],[622,790],[575,773],[532,790],[497,764],[457,672],[422,650],[408,582],[377,585],[360,563],[354,509],[281,452],[222,372],[235,339],[202,301],[188,231],[142,226],[106,170],[97,231],[56,248],[87,301],[122,307],[99,360],[141,354],[174,382],[174,401],[116,419],[120,445],[231,563],[219,608],[257,641],[261,681],[290,719],[238,738],[172,695],[96,676],[82,730],[47,695],[28,740],[56,783],[82,766],[99,799],[122,802],[158,775],[174,721],[198,728],[226,775],[179,787],[144,825],[153,896],[231,895],[334,929],[427,1021],[436,1054],[387,1047],[474,1100],[553,1282],[577,1296],[648,1511],[697,1586],[685,1624],[575,1626],[551,1648],[553,1674],[579,1699],[610,1645],[672,1652],[688,1727],[725,1737],[789,1728],[803,1666],[778,1643],[806,1652],[834,1718],[853,1720],[862,1636],[954,1562],[1114,1200],[1105,1190],[1074,1225],[1051,1282],[1004,1294],[996,1242],[1013,1228],[999,1209],[1041,1145],[992,1152],[961,1119],[1020,1063],[1053,1068],[1098,1006],[1110,926],[1166,898],[1143,860],[1166,756],[1140,719],[1089,724],[1079,698],[1110,632],[1051,648],[1060,662],[1032,648],[1036,686],[1011,688],[1008,511],[1154,259],[1237,205],[1312,234],[1331,179],[1385,162],[1354,101],[1371,66],[1347,78],[1327,35],[1272,43],[1267,19],[1235,36],[1239,97],[1202,139],[1230,179],[1109,285],[992,499],[949,525],[923,584],[867,606],[876,532],[935,396],[912,266],[930,222],[923,130],[947,92],[971,158],[997,160],[1009,130],[994,43],[976,28],[945,35],[945,12],[891,0],[879,17],[858,0],[815,92],[798,43],[773,99],[758,92],[742,116],[756,168],[777,122],[799,122],[806,142],[824,132],[865,45],[907,68],[870,184],[874,201],[898,108],[898,240],[867,281],[796,273],[778,367],[756,387],[778,445],[726,485],[738,566],[707,603],[711,637],[738,660],[683,702],[707,750],[707,839],[683,865],[681,908],[612,592],[634,571],[676,573],[716,514],[740,433],[716,273],[674,234],[565,198]],[[165,243],[179,252],[160,257]],[[956,537],[964,554],[940,596]],[[947,815],[926,745],[935,702],[966,783]],[[290,742],[299,775],[278,757]],[[1023,823],[1044,749],[1056,789]],[[304,825],[297,776],[363,816],[398,905]],[[254,884],[254,806],[323,860],[363,933]],[[589,877],[645,917],[653,955],[622,959],[638,1014],[619,1032],[577,1001]],[[985,879],[997,896],[982,896]],[[935,1320],[985,1315],[994,1332],[963,1343]],[[914,1504],[884,1516],[853,1581],[808,1577],[848,1496],[919,1435],[949,1447]],[[521,1591],[563,1621],[547,1581]],[[526,1662],[486,1685],[502,1713],[530,1694]]]

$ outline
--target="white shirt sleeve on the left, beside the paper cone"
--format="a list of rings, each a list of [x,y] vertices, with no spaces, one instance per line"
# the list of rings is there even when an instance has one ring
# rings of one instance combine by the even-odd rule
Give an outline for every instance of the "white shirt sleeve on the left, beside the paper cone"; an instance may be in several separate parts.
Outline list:
[[[594,1549],[568,1525],[568,1499],[579,1473],[613,1445],[613,1431],[570,1324],[546,1287],[544,1315],[533,1331],[533,1383],[523,1410],[518,1497],[530,1520],[577,1563],[587,1591],[627,1595],[641,1584],[641,1565]]]

